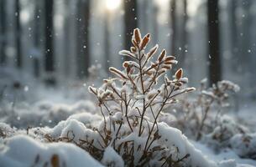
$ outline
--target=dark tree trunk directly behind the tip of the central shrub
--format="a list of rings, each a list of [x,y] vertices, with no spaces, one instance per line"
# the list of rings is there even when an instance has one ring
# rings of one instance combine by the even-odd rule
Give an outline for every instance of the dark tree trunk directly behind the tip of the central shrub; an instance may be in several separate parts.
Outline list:
[[[138,28],[137,0],[124,0],[124,48],[129,50],[133,29]],[[128,57],[125,57],[128,60]]]

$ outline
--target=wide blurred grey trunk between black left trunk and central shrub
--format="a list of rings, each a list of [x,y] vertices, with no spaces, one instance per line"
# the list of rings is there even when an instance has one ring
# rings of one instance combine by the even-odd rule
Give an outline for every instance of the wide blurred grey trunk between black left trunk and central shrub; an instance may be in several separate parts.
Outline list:
[[[89,46],[90,0],[77,3],[77,70],[78,77],[88,76],[90,66]]]

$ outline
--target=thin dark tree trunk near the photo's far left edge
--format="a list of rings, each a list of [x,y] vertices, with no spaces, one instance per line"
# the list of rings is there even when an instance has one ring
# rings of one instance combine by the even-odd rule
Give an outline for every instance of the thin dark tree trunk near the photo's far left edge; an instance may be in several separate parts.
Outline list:
[[[15,0],[15,21],[16,21],[16,65],[18,68],[22,68],[22,53],[21,53],[21,27],[19,18],[19,0]]]

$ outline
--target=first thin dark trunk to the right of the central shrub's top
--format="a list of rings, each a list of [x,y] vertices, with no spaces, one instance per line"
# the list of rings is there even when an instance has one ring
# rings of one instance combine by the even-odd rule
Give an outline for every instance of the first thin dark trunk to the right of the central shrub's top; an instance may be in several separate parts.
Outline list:
[[[171,0],[170,1],[170,27],[172,30],[172,38],[171,38],[171,54],[176,55],[176,13],[175,13],[175,8],[176,8],[176,0]]]

